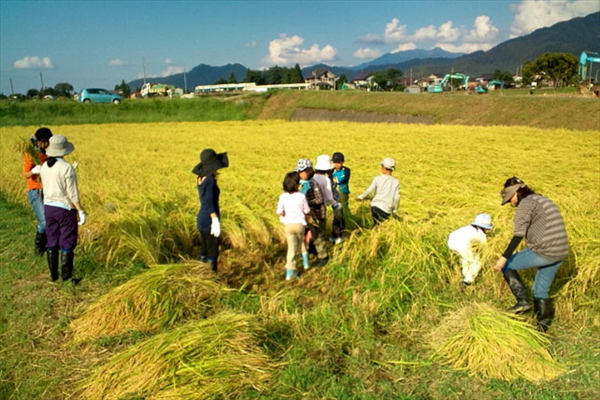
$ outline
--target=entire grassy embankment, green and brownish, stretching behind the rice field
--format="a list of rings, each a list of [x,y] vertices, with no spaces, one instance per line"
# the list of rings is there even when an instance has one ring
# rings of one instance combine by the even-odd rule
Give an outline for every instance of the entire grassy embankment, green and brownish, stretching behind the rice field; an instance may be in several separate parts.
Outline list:
[[[279,91],[238,97],[125,100],[122,104],[74,101],[0,102],[0,126],[128,122],[289,120],[298,107],[431,116],[437,124],[520,125],[535,128],[600,129],[600,101],[583,97]]]

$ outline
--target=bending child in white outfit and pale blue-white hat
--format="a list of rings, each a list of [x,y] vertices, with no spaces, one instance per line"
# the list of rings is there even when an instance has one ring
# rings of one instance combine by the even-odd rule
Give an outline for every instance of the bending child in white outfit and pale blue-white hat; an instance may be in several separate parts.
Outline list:
[[[470,225],[458,228],[448,236],[448,247],[461,257],[464,285],[472,284],[481,269],[481,261],[479,255],[473,252],[473,245],[487,242],[485,233],[493,227],[490,215],[479,214]]]

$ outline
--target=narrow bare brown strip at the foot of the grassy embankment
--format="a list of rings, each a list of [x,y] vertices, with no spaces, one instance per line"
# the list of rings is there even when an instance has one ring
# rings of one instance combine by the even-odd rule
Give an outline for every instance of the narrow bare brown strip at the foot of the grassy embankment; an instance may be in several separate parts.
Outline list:
[[[433,124],[431,116],[383,114],[352,110],[296,109],[292,121],[350,121],[350,122],[392,122],[402,124]]]

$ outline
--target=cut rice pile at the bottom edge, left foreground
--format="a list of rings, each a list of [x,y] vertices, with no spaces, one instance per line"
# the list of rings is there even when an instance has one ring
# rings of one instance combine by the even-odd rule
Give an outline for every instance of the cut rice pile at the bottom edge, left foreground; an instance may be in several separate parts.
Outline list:
[[[230,398],[262,389],[274,368],[250,315],[225,312],[160,333],[115,354],[80,389],[85,399]]]

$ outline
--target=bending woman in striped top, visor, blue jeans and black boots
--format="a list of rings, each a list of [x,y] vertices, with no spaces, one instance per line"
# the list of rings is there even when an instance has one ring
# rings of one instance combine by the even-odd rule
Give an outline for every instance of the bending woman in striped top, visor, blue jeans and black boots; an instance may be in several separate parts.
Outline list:
[[[514,236],[493,269],[502,270],[504,279],[517,298],[508,311],[520,314],[532,308],[527,289],[517,272],[537,268],[533,282],[533,312],[544,332],[554,316],[550,286],[554,275],[569,252],[565,222],[559,209],[550,199],[536,194],[516,177],[507,179],[500,193],[502,205],[510,202],[517,207],[514,218]],[[513,254],[526,238],[527,248]]]

